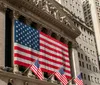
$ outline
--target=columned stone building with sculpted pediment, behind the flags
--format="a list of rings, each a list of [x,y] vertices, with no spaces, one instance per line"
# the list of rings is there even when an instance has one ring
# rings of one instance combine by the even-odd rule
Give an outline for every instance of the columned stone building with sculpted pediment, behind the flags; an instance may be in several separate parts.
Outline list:
[[[14,64],[14,21],[19,20],[68,45],[71,76],[80,73],[76,37],[80,31],[69,14],[54,0],[0,0],[0,83],[1,85],[58,85],[54,77],[40,81],[29,70]],[[78,68],[78,69],[77,69]],[[76,76],[75,76],[76,77]],[[72,82],[69,83],[72,85]]]

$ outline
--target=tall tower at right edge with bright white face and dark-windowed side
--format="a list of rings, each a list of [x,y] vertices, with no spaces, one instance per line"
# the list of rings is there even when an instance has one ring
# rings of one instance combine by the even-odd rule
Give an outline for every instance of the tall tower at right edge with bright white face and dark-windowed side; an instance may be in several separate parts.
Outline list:
[[[100,1],[99,0],[85,0],[83,2],[83,10],[85,22],[94,30],[98,56],[100,60]]]

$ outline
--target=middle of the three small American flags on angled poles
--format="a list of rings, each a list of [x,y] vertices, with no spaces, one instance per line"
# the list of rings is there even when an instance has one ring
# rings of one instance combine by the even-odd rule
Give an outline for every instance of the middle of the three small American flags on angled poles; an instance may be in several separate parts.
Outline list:
[[[64,74],[64,69],[63,68],[60,68],[60,70],[55,73],[55,76],[58,78],[59,81],[62,82],[63,85],[68,84],[68,81],[67,81],[67,78]]]

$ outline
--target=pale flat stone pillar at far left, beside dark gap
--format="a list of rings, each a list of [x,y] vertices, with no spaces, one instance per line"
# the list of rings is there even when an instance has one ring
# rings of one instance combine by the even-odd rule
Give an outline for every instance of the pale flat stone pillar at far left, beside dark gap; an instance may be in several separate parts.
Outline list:
[[[0,2],[0,66],[5,66],[5,5]]]

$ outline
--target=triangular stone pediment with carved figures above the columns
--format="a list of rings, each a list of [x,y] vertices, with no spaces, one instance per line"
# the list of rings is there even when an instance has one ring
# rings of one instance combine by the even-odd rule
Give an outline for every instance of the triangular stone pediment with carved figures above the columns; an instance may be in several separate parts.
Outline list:
[[[45,22],[53,25],[73,39],[79,36],[80,31],[74,26],[72,19],[67,12],[63,10],[63,6],[55,0],[3,0],[3,2],[16,9],[21,10],[29,15],[36,15]],[[35,16],[35,18],[36,18]],[[34,17],[34,16],[32,16]]]

